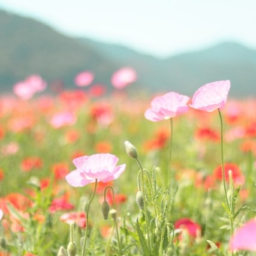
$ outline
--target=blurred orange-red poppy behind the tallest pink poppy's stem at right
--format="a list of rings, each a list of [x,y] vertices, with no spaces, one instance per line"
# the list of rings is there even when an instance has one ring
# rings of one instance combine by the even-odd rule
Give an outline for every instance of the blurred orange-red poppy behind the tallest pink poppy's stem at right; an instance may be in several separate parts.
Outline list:
[[[237,164],[233,163],[227,163],[224,164],[224,173],[225,173],[225,179],[227,182],[229,182],[228,178],[228,171],[232,171],[232,176],[234,180],[234,184],[236,185],[242,185],[245,182],[245,176],[243,176],[242,171],[240,170],[239,166]],[[221,165],[215,168],[213,171],[213,177],[218,180],[222,180],[222,168]]]

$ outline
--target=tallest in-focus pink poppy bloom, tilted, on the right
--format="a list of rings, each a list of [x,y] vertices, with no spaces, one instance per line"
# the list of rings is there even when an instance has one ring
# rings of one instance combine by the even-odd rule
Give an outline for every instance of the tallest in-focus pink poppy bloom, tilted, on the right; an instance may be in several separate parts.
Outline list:
[[[189,106],[206,112],[221,110],[227,102],[229,89],[229,80],[207,83],[195,92]]]

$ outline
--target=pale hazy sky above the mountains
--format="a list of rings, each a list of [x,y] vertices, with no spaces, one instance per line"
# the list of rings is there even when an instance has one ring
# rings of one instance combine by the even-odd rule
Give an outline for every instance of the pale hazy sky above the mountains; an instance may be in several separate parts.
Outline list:
[[[222,41],[256,49],[256,0],[0,0],[62,34],[132,47],[157,56]]]

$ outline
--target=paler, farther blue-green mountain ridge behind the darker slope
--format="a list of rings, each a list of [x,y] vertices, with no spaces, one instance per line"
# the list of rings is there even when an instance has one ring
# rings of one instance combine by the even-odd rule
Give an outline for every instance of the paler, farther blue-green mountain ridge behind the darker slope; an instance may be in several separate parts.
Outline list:
[[[123,46],[88,38],[79,40],[108,59],[134,67],[143,87],[153,91],[192,95],[205,83],[230,80],[231,95],[256,97],[256,51],[237,43],[222,43],[199,52],[158,59]]]

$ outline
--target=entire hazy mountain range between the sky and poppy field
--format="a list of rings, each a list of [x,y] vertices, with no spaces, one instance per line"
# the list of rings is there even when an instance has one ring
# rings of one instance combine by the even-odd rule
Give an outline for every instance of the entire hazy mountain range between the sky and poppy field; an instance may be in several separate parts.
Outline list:
[[[62,79],[66,88],[75,88],[74,76],[83,70],[95,73],[95,83],[110,87],[113,72],[124,66],[138,73],[134,89],[192,95],[205,83],[231,80],[230,95],[256,97],[256,51],[240,44],[160,59],[124,46],[66,37],[35,20],[0,11],[0,92],[29,74],[48,82]]]

